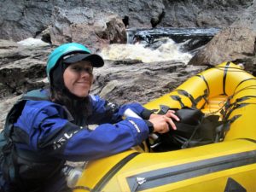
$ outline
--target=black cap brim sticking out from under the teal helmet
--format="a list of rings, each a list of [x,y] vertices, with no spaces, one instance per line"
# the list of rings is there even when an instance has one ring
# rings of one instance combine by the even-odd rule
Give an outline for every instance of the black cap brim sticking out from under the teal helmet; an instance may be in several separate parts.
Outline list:
[[[96,54],[76,54],[64,59],[64,62],[67,64],[79,61],[90,61],[92,67],[102,67],[104,65],[102,57]]]

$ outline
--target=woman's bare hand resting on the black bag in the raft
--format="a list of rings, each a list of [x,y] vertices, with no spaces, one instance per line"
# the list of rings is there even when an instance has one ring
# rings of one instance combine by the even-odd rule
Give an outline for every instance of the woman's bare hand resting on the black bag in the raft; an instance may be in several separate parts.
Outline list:
[[[168,110],[166,114],[155,114],[152,113],[148,119],[154,125],[154,132],[166,133],[169,130],[169,125],[172,126],[173,130],[176,130],[176,125],[172,119],[179,121],[177,115],[174,114],[175,111]]]

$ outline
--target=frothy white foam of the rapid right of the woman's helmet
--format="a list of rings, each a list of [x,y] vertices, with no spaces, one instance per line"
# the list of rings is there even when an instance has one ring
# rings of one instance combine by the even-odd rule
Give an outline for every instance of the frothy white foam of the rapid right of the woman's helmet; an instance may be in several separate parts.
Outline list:
[[[182,61],[188,63],[192,55],[180,51],[180,44],[171,38],[166,43],[160,44],[156,49],[145,47],[144,44],[111,44],[102,49],[101,55],[107,60],[140,60],[143,62],[154,61]]]

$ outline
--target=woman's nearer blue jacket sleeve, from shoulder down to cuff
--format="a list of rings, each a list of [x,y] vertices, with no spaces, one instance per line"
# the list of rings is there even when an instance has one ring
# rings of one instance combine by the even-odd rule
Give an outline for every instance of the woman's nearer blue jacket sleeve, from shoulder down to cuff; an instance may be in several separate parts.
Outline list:
[[[95,160],[125,151],[148,137],[148,125],[143,119],[127,118],[91,131],[64,119],[61,108],[55,105],[34,111],[33,118],[26,121],[29,113],[24,112],[16,125],[27,131],[30,148],[62,160]]]

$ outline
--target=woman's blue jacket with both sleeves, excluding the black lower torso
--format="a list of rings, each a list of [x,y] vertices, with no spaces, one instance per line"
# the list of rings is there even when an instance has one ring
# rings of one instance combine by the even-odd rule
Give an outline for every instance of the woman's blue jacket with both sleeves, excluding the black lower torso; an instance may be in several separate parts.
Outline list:
[[[27,101],[15,123],[22,136],[16,147],[60,160],[84,161],[117,154],[148,137],[148,125],[143,119],[121,119],[127,108],[141,115],[145,108],[140,104],[118,107],[99,96],[90,96],[90,103],[92,114],[85,121],[87,125],[98,125],[95,130],[73,124],[70,113],[59,104]]]

